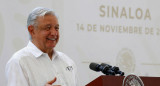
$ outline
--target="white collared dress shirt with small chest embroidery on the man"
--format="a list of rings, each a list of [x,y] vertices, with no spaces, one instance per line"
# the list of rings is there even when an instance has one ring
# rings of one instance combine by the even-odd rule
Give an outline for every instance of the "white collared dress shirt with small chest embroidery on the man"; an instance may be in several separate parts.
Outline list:
[[[7,86],[77,86],[75,63],[65,54],[54,51],[52,60],[31,41],[16,52],[6,65]]]

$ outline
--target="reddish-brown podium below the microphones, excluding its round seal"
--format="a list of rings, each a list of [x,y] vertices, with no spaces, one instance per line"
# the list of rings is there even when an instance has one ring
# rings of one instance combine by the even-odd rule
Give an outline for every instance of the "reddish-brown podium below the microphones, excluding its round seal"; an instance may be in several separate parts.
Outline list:
[[[141,76],[144,86],[160,86],[160,77]],[[122,86],[124,76],[102,75],[88,83],[86,86]]]

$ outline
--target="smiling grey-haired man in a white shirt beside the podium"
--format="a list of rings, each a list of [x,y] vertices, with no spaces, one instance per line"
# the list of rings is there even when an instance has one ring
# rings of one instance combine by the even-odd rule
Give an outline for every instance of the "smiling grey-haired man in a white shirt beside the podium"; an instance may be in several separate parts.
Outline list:
[[[59,23],[48,8],[35,8],[28,17],[31,40],[6,65],[7,86],[77,86],[76,66],[55,51]]]

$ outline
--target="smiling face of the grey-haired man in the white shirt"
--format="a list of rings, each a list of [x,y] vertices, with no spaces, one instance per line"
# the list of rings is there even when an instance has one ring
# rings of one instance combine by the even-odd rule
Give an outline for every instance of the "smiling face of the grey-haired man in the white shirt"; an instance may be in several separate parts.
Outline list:
[[[43,52],[53,49],[59,40],[59,23],[56,16],[37,18],[37,26],[31,33],[32,42]]]

